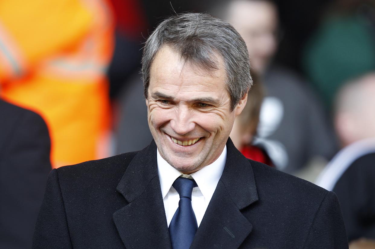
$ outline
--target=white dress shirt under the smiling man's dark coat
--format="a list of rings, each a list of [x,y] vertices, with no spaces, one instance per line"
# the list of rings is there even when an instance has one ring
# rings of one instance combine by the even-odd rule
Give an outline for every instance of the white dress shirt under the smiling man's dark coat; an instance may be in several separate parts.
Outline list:
[[[212,198],[216,185],[223,173],[226,162],[226,145],[223,152],[215,162],[211,163],[192,173],[190,176],[195,180],[198,187],[193,188],[192,192],[192,207],[195,213],[196,222],[198,227],[201,224],[204,213],[206,212],[208,203]],[[169,165],[157,150],[157,171],[159,173],[160,187],[162,190],[164,209],[166,221],[169,224],[173,218],[174,213],[178,208],[180,196],[177,191],[172,187],[173,182],[179,176],[183,175],[180,171]]]

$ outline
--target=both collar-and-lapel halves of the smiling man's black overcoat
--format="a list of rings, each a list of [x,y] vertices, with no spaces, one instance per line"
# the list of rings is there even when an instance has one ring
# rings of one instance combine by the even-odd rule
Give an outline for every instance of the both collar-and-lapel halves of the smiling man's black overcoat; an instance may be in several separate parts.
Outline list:
[[[258,200],[249,160],[227,142],[223,174],[207,207],[191,248],[238,248],[252,230],[241,210]],[[129,164],[117,190],[129,202],[117,210],[114,222],[126,247],[171,248],[157,174],[154,141]]]

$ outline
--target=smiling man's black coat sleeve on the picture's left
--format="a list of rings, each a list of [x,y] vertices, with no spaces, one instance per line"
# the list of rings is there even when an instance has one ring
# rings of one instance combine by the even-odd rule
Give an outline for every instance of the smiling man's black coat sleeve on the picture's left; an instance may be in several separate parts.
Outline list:
[[[72,248],[57,169],[53,169],[48,176],[32,248]]]

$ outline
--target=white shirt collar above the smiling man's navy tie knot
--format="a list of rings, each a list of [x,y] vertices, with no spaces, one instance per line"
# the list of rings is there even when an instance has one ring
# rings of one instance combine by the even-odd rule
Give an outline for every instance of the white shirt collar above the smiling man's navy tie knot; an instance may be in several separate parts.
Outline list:
[[[159,174],[160,187],[164,199],[175,179],[182,175],[182,173],[169,165],[169,163],[166,162],[162,156],[160,156],[159,150],[157,150],[156,154],[157,172]],[[211,197],[216,189],[216,185],[223,173],[226,162],[226,154],[227,151],[225,145],[224,150],[213,163],[191,174],[206,200],[211,200]]]

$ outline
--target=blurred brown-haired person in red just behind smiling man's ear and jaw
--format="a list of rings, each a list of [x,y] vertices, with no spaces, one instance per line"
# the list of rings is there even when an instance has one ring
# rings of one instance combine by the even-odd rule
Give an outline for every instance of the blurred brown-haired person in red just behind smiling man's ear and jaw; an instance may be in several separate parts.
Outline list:
[[[263,86],[258,77],[252,74],[253,86],[248,94],[248,101],[242,113],[234,120],[230,138],[237,150],[248,159],[273,166],[270,157],[263,148],[252,145],[257,136],[259,113],[263,101]]]

